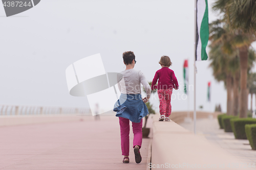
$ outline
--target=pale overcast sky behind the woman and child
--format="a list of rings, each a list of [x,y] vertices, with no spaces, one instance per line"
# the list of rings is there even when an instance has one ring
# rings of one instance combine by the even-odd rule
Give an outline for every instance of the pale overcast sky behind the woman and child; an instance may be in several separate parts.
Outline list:
[[[209,22],[218,16],[211,10],[213,2],[208,1]],[[0,6],[0,16],[2,104],[88,107],[87,98],[69,94],[65,70],[97,53],[106,72],[120,72],[122,53],[133,51],[135,69],[148,81],[161,68],[160,57],[167,55],[180,85],[183,62],[189,59],[189,84],[194,84],[194,1],[42,0],[13,17],[5,17]],[[203,105],[203,110],[214,111],[221,104],[226,111],[224,83],[215,81],[208,65],[209,61],[197,62],[197,108]],[[189,92],[192,110],[194,96]],[[181,99],[183,91],[174,90],[173,111],[187,110],[187,100],[179,100],[178,93]],[[158,111],[158,99],[152,102]]]

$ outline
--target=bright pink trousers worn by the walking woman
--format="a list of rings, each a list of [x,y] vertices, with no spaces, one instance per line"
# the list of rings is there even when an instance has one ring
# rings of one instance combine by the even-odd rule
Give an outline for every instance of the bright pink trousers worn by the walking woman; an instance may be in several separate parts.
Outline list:
[[[120,124],[120,135],[121,135],[121,149],[122,155],[129,156],[129,147],[130,147],[130,120],[127,118],[119,117]],[[140,123],[133,123],[133,148],[135,145],[139,145],[141,148],[142,143],[142,119]]]

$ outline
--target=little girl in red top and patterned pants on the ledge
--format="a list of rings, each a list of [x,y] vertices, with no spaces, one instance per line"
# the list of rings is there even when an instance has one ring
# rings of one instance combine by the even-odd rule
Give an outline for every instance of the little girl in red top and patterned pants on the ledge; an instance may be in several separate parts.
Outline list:
[[[172,65],[170,58],[168,56],[162,56],[159,64],[162,66],[161,69],[157,70],[155,77],[152,81],[151,89],[157,88],[158,98],[160,100],[159,111],[160,118],[159,121],[170,121],[169,115],[172,112],[172,105],[170,105],[170,98],[172,97],[173,88],[178,90],[179,84],[177,78],[175,77],[174,71],[169,69]],[[158,84],[156,85],[158,80]],[[164,118],[165,115],[165,118]]]

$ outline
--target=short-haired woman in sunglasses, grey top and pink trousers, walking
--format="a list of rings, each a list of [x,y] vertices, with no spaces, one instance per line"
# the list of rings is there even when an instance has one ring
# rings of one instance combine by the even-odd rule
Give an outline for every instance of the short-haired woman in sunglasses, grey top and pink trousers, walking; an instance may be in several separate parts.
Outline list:
[[[119,117],[120,134],[121,134],[121,149],[123,163],[129,163],[129,133],[130,121],[133,124],[133,148],[136,163],[141,162],[140,148],[142,143],[142,118],[148,114],[145,103],[150,99],[151,88],[147,83],[144,74],[135,70],[136,63],[133,52],[123,53],[123,63],[126,69],[120,72],[118,77],[118,88],[121,92],[119,100],[114,105],[116,116]],[[140,84],[146,89],[146,97],[141,97]]]

